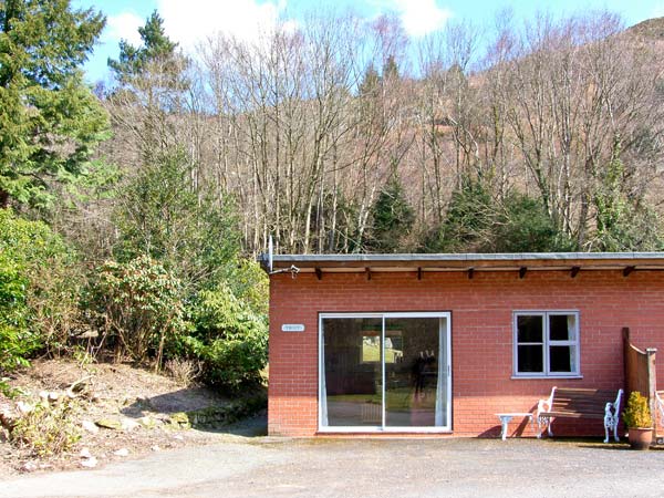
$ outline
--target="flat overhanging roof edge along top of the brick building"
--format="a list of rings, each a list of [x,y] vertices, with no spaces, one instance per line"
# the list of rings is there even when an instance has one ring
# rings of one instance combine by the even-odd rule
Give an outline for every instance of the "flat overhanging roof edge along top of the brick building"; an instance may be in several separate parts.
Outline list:
[[[261,263],[269,271],[269,256]],[[273,255],[272,272],[664,270],[664,252]]]

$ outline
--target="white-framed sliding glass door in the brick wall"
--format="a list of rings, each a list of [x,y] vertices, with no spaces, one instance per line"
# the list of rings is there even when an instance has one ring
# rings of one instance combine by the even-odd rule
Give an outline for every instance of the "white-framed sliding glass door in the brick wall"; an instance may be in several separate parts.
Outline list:
[[[450,428],[449,313],[320,317],[321,430]]]

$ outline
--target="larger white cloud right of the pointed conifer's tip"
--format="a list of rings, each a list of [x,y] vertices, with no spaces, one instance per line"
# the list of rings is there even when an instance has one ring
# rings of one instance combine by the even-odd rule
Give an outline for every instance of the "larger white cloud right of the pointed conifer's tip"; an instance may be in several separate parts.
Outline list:
[[[218,32],[257,40],[274,28],[284,8],[284,0],[157,0],[166,34],[184,49]]]

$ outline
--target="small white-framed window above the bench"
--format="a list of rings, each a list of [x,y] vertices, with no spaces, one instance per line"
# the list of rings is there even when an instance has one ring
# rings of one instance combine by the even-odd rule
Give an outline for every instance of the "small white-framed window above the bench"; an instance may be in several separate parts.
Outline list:
[[[578,311],[515,311],[513,373],[516,377],[577,377]]]

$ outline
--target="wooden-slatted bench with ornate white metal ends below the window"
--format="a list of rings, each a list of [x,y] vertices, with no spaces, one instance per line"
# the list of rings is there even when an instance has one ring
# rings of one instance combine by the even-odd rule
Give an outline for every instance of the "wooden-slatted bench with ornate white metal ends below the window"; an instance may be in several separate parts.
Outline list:
[[[612,430],[613,438],[619,440],[618,423],[622,393],[622,390],[618,390],[616,395],[615,391],[553,387],[549,398],[540,400],[537,404],[537,437],[542,436],[544,426],[549,436],[553,436],[553,418],[598,418],[604,421],[604,443],[609,443],[609,430]]]

